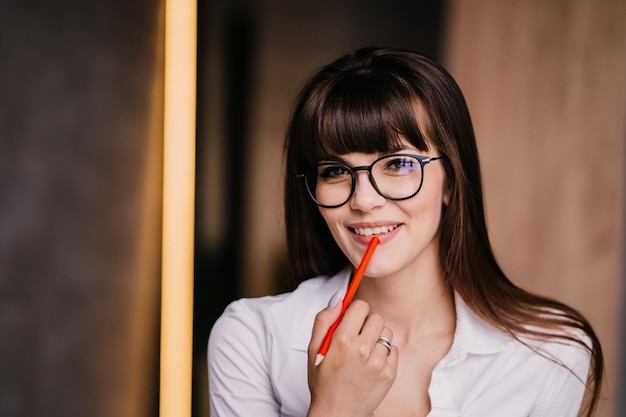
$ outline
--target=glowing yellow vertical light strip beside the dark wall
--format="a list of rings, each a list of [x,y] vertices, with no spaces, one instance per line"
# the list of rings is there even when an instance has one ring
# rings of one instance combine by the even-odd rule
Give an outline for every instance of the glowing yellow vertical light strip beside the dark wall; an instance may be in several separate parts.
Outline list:
[[[161,417],[191,416],[196,0],[165,1]]]

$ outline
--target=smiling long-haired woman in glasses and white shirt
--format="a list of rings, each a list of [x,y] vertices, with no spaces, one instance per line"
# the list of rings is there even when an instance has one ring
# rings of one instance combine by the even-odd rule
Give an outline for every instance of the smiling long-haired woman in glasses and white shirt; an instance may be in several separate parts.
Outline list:
[[[593,414],[599,341],[578,312],[498,266],[470,116],[443,68],[389,48],[339,58],[301,91],[285,154],[299,285],[236,301],[214,325],[211,417]]]

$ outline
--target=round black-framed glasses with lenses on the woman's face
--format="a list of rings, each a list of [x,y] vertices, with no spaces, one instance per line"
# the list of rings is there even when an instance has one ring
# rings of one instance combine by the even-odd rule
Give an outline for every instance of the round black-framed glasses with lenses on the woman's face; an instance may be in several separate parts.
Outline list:
[[[297,176],[304,179],[315,204],[335,208],[346,204],[356,188],[357,171],[367,171],[378,194],[388,200],[407,200],[422,188],[424,166],[443,157],[398,153],[381,156],[372,165],[351,168],[339,162],[322,162]]]

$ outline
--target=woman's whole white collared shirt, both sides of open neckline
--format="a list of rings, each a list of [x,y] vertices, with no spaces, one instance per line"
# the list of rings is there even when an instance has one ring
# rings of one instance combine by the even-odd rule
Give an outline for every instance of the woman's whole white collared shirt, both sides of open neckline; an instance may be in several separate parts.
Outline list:
[[[211,417],[304,417],[307,347],[315,315],[350,270],[304,281],[290,293],[231,303],[208,345]],[[430,381],[429,417],[574,417],[590,364],[576,344],[527,341],[569,369],[496,330],[455,295],[456,330]]]

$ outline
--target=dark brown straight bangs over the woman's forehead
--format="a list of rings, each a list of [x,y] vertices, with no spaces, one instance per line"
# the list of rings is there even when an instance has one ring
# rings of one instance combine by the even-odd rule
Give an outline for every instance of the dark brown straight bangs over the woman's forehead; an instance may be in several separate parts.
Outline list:
[[[305,150],[309,163],[351,152],[389,153],[428,145],[418,120],[419,99],[402,80],[389,74],[357,70],[330,87],[310,126],[316,128]]]

